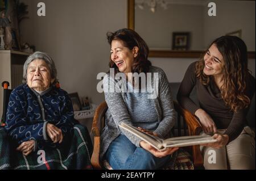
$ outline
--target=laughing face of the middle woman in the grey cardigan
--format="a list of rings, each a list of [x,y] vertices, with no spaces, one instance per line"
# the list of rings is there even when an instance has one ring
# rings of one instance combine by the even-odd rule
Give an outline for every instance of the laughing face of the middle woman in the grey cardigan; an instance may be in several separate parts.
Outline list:
[[[137,57],[137,49],[130,50],[123,46],[121,40],[113,40],[111,43],[111,60],[117,65],[118,70],[123,73],[130,73],[134,58]]]

